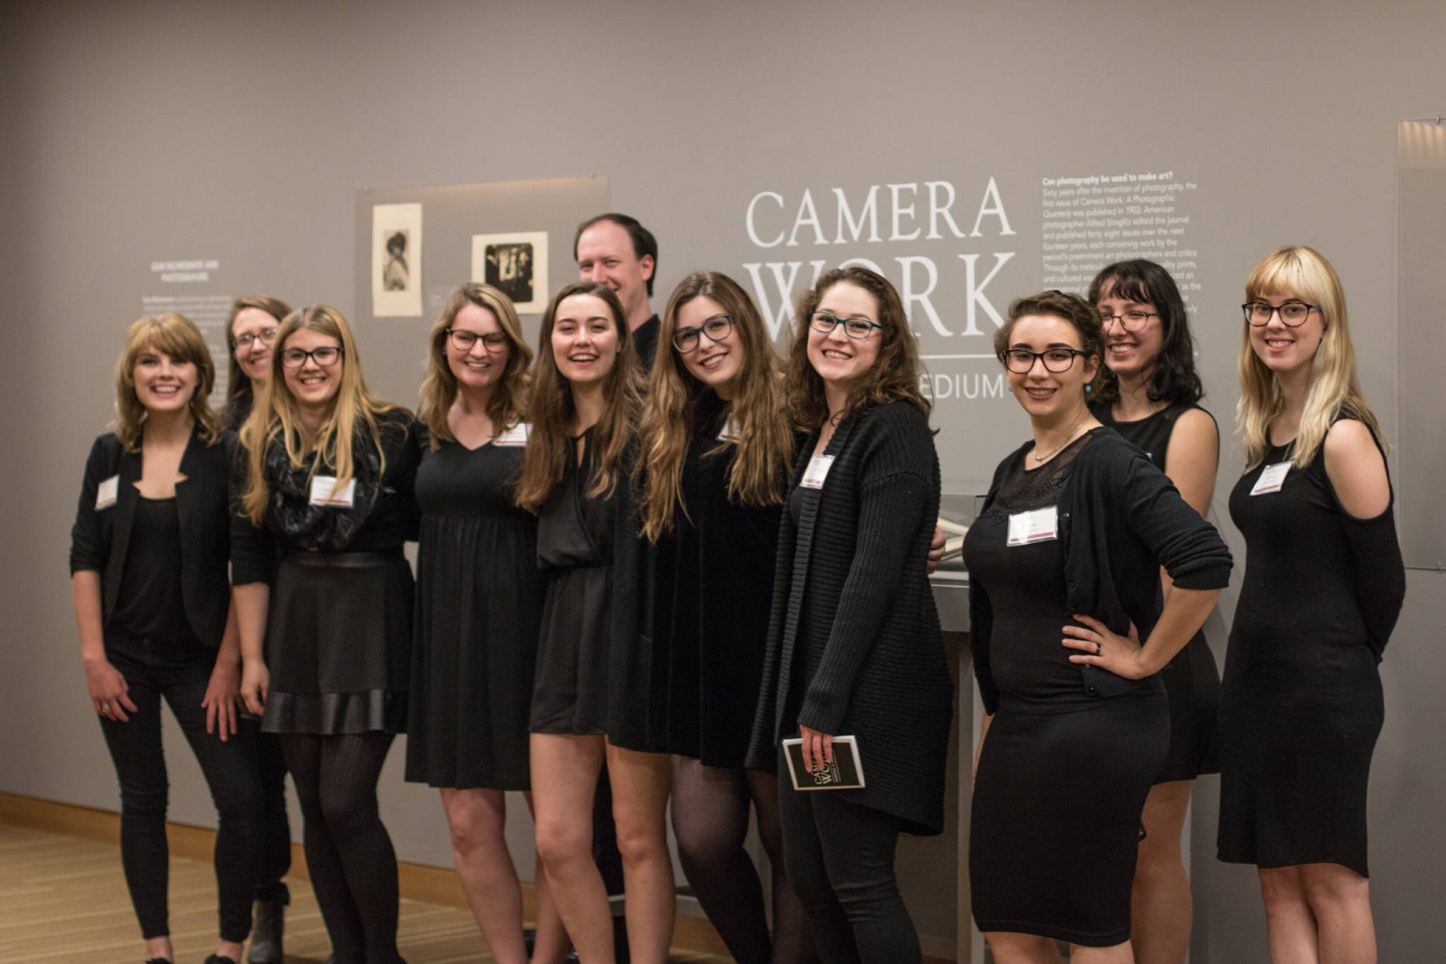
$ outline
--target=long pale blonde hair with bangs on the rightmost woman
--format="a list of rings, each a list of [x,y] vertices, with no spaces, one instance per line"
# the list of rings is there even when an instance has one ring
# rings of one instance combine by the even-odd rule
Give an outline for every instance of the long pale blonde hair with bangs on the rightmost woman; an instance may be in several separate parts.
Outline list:
[[[1342,415],[1359,419],[1371,429],[1381,448],[1385,439],[1365,399],[1356,376],[1355,347],[1346,321],[1346,295],[1340,277],[1319,251],[1301,244],[1287,244],[1267,254],[1245,282],[1245,301],[1262,296],[1293,295],[1320,306],[1323,334],[1316,357],[1310,360],[1310,387],[1300,415],[1300,431],[1290,445],[1290,461],[1304,468],[1316,457],[1330,425]],[[1275,374],[1251,347],[1251,328],[1241,321],[1241,400],[1235,406],[1235,431],[1245,447],[1245,471],[1261,464],[1270,451],[1270,423],[1281,410]]]

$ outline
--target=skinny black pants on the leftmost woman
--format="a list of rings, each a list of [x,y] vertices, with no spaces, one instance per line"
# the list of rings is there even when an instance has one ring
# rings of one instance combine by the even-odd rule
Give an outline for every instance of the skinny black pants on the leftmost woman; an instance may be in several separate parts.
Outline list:
[[[120,861],[126,887],[149,941],[171,934],[166,912],[171,851],[166,847],[166,762],[161,744],[161,700],[171,705],[191,744],[215,804],[215,887],[221,939],[244,941],[252,931],[260,809],[256,733],[241,727],[224,743],[205,731],[205,687],[215,665],[210,649],[126,643],[106,658],[126,678],[136,704],[130,720],[101,717],[101,731],[120,778]]]

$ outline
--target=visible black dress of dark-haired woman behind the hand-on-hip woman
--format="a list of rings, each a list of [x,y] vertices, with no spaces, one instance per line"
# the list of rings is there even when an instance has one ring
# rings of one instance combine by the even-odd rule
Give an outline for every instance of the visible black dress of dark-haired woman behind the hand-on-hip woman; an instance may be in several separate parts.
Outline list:
[[[1171,405],[1134,422],[1116,422],[1109,405],[1092,405],[1090,412],[1125,441],[1142,451],[1160,471],[1165,470],[1165,452],[1176,421],[1199,405]],[[1205,412],[1210,415],[1209,412]],[[1215,421],[1215,416],[1210,416]],[[1155,783],[1193,780],[1205,773],[1220,772],[1220,754],[1215,741],[1215,718],[1220,701],[1220,671],[1215,663],[1205,632],[1196,633],[1176,658],[1160,671],[1170,698],[1170,753],[1155,776]]]

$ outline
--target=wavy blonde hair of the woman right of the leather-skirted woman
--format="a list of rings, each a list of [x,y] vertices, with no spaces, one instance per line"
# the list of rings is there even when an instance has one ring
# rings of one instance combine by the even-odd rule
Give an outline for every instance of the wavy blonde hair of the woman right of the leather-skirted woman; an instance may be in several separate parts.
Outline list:
[[[512,299],[492,285],[469,282],[454,291],[442,308],[441,317],[432,322],[427,341],[427,374],[422,377],[422,405],[416,416],[427,423],[432,451],[442,442],[454,442],[447,413],[457,400],[457,376],[447,363],[447,330],[457,321],[458,312],[467,305],[484,308],[497,319],[497,327],[508,338],[508,367],[487,399],[487,418],[495,432],[509,429],[525,415],[528,390],[528,366],[532,364],[532,348],[522,340],[522,322]]]

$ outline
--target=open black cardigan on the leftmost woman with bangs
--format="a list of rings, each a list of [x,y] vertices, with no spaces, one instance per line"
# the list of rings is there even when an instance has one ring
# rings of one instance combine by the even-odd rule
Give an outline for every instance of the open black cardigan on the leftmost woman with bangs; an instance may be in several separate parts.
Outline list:
[[[176,483],[176,513],[181,519],[181,598],[191,632],[207,646],[220,646],[231,606],[227,578],[230,558],[230,512],[227,483],[236,436],[205,445],[200,428],[191,432],[181,455],[184,481]],[[126,546],[140,490],[140,452],[127,452],[120,439],[107,432],[95,439],[85,461],[75,525],[71,528],[71,574],[82,569],[100,572],[101,633],[110,633],[116,614],[121,575],[126,571]],[[111,475],[119,475],[116,504],[95,509],[95,490]]]

